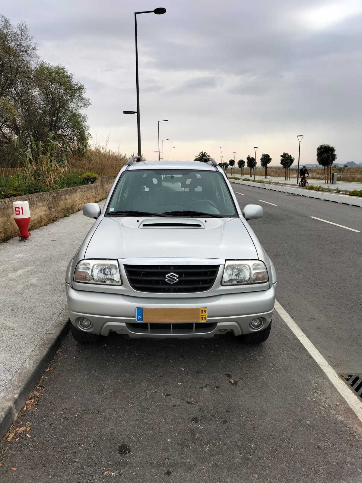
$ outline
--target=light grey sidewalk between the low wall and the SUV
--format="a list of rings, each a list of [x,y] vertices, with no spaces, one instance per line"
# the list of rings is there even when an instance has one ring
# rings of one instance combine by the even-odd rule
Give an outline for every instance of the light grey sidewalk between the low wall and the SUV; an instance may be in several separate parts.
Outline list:
[[[65,271],[93,223],[78,212],[0,243],[0,393],[65,307]]]

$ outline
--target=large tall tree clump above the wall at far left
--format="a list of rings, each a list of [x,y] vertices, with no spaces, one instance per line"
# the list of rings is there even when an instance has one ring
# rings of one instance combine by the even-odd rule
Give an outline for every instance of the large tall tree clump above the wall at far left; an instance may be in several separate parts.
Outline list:
[[[15,55],[16,42],[23,43],[23,47],[17,48]],[[5,17],[0,22],[1,69],[5,72],[0,75],[2,152],[15,142],[20,147],[31,139],[46,143],[49,133],[67,149],[84,151],[89,138],[84,110],[90,104],[84,85],[76,82],[65,67],[39,62],[26,25],[14,28]],[[11,77],[13,71],[17,73]]]

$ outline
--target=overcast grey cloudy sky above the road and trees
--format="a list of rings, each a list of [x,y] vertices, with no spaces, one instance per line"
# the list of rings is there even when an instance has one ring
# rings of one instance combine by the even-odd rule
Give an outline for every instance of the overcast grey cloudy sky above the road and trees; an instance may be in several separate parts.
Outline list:
[[[362,162],[362,1],[16,0],[0,12],[28,23],[42,59],[84,83],[99,143],[137,152],[134,11],[138,16],[142,154],[168,138],[174,159],[206,150],[220,161],[258,146],[273,164],[289,151],[315,162]]]

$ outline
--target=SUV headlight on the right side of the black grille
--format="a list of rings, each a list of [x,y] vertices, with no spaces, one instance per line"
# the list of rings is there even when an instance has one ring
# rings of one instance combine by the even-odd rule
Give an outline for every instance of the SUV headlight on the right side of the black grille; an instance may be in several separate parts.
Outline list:
[[[226,260],[222,285],[261,284],[268,282],[264,262],[257,260]]]

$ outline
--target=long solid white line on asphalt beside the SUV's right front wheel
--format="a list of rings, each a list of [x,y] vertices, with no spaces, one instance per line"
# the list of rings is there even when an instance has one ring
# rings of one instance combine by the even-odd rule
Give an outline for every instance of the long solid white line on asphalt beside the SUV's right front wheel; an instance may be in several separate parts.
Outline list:
[[[328,364],[325,358],[320,354],[315,345],[309,341],[306,334],[301,330],[296,323],[293,321],[292,317],[287,313],[279,302],[275,301],[275,309],[277,310],[280,317],[284,320],[287,326],[291,329],[295,337],[301,342],[313,359],[317,362],[320,369],[328,377],[334,387],[337,389],[342,398],[345,399],[348,406],[356,414],[358,419],[362,422],[362,402],[358,399],[357,395],[347,387],[347,385],[338,376],[335,370]]]

